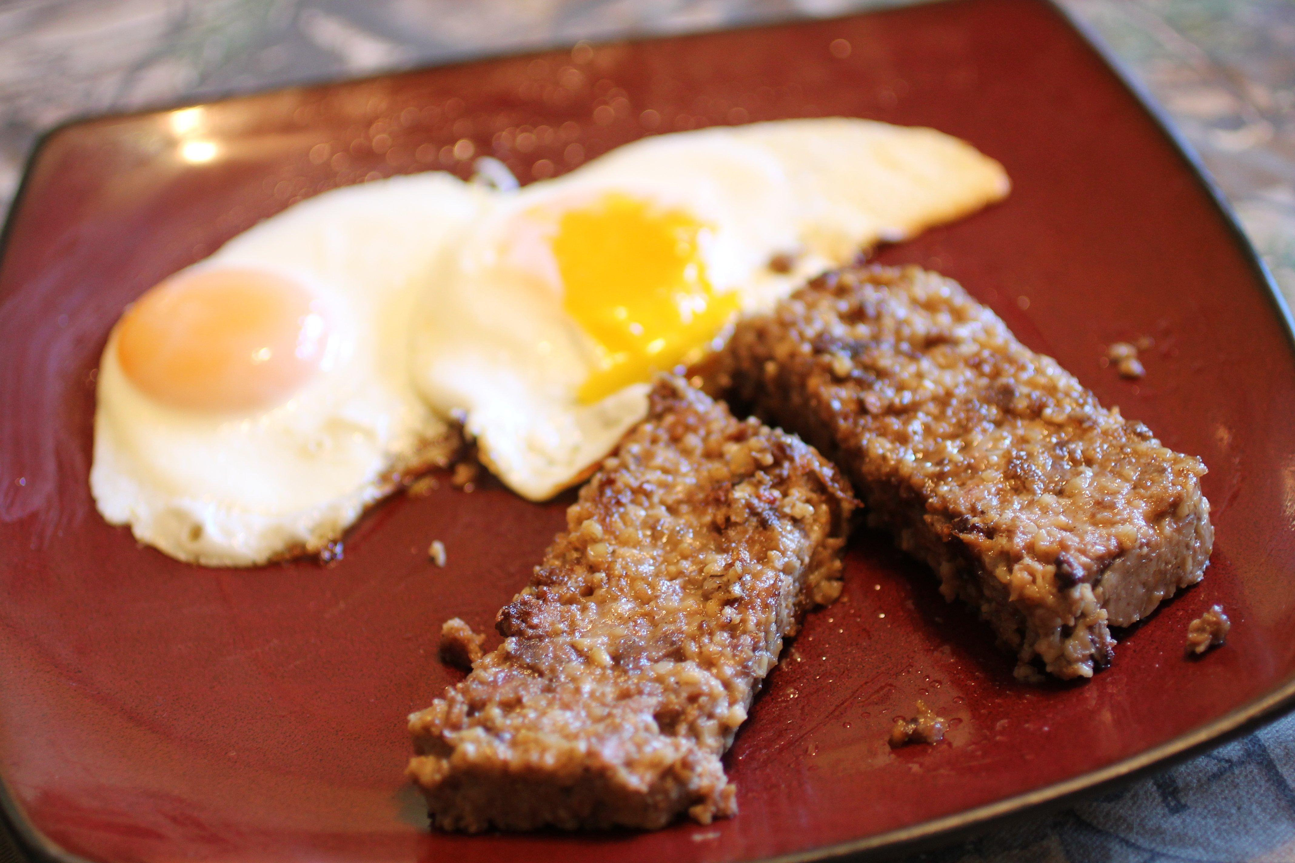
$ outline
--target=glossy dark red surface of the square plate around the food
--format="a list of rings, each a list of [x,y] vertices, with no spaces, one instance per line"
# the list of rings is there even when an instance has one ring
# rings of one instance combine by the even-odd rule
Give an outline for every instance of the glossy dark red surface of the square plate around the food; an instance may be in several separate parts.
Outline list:
[[[466,176],[456,153],[499,155],[524,182],[651,132],[821,115],[932,126],[1000,159],[1005,203],[881,259],[960,279],[1210,467],[1208,577],[1123,634],[1094,681],[1014,682],[929,572],[861,534],[846,599],[809,616],[728,757],[737,818],[433,835],[401,770],[405,716],[457,677],[435,659],[439,625],[490,628],[570,498],[443,483],[379,507],[335,565],[250,572],[177,564],[95,512],[109,327],[260,219],[366,177]],[[1146,377],[1123,380],[1101,357],[1137,336],[1155,340]],[[0,268],[0,774],[41,841],[96,860],[750,860],[890,842],[1202,743],[1256,699],[1281,706],[1295,677],[1292,415],[1291,343],[1250,251],[1137,98],[1035,0],[579,47],[216,102],[183,122],[75,124],[35,158]],[[1232,638],[1188,661],[1186,625],[1211,603]],[[951,721],[948,739],[891,752],[891,718],[918,697]]]

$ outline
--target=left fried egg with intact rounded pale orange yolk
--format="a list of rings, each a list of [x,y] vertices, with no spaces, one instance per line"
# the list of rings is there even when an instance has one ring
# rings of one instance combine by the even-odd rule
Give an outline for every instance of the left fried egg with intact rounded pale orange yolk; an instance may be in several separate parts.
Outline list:
[[[408,322],[487,197],[444,173],[328,191],[145,292],[100,362],[104,518],[254,565],[324,547],[435,459],[447,426],[412,384]]]

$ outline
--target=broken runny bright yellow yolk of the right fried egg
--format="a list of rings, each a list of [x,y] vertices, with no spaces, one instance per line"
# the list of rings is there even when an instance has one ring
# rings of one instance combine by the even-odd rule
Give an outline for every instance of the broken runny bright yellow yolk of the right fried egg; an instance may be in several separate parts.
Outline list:
[[[619,193],[562,213],[552,248],[563,305],[600,355],[581,402],[695,362],[737,311],[737,295],[716,294],[707,278],[708,230],[688,212]]]

